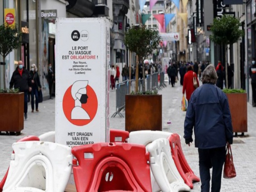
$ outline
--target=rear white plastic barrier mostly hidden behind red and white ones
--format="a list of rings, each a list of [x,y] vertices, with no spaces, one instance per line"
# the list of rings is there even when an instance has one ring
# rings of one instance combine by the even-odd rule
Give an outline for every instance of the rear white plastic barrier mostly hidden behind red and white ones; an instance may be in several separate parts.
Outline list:
[[[135,144],[142,144],[147,147],[150,143],[152,143],[154,140],[159,138],[168,138],[172,133],[170,132],[164,132],[164,131],[151,131],[151,130],[142,130],[142,131],[133,131],[130,132],[128,143],[135,143]],[[147,150],[148,151],[148,150]],[[151,186],[152,186],[152,192],[159,192],[160,187],[158,186],[152,171],[150,169],[151,174]]]

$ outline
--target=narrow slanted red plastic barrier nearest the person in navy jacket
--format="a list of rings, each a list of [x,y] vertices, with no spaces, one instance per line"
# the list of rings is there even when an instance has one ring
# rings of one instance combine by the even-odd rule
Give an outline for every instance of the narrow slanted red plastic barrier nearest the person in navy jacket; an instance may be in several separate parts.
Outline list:
[[[172,150],[172,158],[174,163],[180,173],[180,176],[183,178],[184,182],[193,189],[193,182],[199,182],[200,178],[198,178],[190,166],[183,154],[182,147],[180,144],[180,136],[178,134],[172,134],[168,137],[170,142],[170,147]]]

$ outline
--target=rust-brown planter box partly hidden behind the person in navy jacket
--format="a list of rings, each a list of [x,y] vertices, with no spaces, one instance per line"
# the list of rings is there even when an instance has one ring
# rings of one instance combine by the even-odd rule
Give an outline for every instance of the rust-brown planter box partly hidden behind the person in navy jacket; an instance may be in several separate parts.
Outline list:
[[[247,94],[227,93],[233,132],[247,132]]]

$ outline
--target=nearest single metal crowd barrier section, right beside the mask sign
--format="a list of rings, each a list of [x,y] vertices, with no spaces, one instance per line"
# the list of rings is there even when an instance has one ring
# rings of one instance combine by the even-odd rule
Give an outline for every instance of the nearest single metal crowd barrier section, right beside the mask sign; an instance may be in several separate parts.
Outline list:
[[[116,112],[114,112],[111,117],[115,117],[117,114],[120,117],[124,117],[121,113],[121,110],[124,109],[125,106],[125,95],[129,92],[129,89],[127,89],[127,87],[129,87],[128,80],[116,84]]]

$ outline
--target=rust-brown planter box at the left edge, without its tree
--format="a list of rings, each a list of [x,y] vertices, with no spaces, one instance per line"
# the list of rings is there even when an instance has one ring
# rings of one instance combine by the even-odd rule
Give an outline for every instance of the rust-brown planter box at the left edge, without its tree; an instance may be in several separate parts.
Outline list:
[[[24,129],[24,93],[1,93],[0,106],[0,131],[19,134]]]

